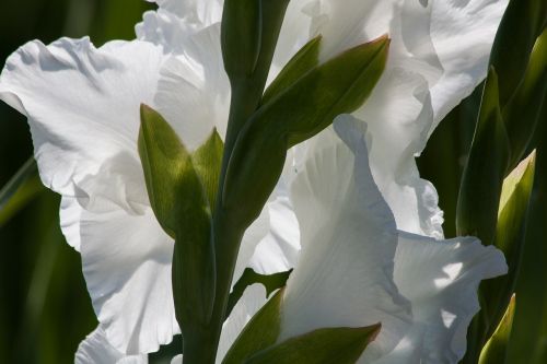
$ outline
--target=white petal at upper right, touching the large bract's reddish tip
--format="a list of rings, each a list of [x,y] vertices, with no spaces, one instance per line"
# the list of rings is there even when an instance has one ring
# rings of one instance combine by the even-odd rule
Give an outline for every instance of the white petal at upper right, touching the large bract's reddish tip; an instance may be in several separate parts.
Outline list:
[[[314,32],[324,36],[324,59],[389,34],[386,70],[354,116],[369,125],[371,168],[398,228],[441,238],[437,191],[419,178],[414,161],[433,122],[429,84],[442,74],[429,35],[431,7],[417,1],[323,0],[306,3],[304,9]]]

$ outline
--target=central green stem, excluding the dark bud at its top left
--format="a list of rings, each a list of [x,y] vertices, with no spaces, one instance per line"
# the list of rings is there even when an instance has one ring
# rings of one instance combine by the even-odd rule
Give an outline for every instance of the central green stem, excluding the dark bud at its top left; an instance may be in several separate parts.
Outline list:
[[[214,305],[211,320],[207,325],[199,328],[194,326],[191,332],[183,328],[184,364],[212,364],[217,356],[237,254],[243,234],[248,226],[234,221],[234,214],[222,207],[226,169],[242,128],[260,104],[288,4],[289,0],[261,2],[263,38],[256,69],[248,77],[230,80],[232,87],[230,115],[212,218],[217,269]]]

